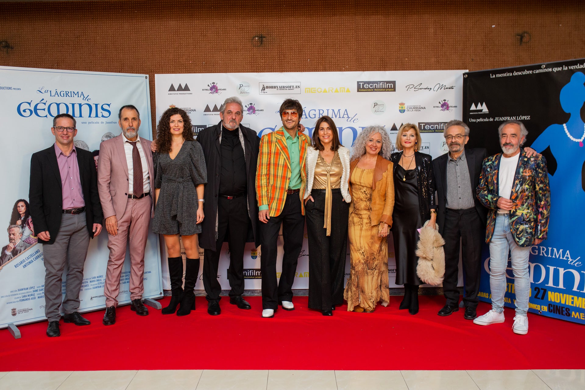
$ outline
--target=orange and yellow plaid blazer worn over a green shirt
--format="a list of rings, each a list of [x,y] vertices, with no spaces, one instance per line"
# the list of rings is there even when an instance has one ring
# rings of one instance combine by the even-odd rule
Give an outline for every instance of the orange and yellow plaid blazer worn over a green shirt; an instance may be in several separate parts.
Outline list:
[[[305,215],[305,204],[302,196],[307,185],[307,148],[311,144],[307,134],[298,133],[301,189],[298,196],[301,199],[302,215]],[[256,170],[256,197],[258,206],[268,205],[269,215],[278,216],[283,211],[284,201],[287,199],[288,183],[290,182],[291,165],[288,156],[287,140],[282,127],[275,132],[264,134],[260,139],[258,165]]]

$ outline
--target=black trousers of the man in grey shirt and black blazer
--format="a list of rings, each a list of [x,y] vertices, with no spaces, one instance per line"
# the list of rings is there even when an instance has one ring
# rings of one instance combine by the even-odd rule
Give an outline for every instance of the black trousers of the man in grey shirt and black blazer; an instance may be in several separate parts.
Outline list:
[[[481,245],[486,237],[486,226],[475,208],[466,210],[447,209],[443,239],[445,239],[445,279],[443,279],[443,295],[447,305],[456,306],[459,303],[459,289],[457,289],[457,275],[459,274],[459,240],[461,239],[463,253],[462,264],[465,280],[466,306],[477,307],[477,292],[479,291],[481,272]]]

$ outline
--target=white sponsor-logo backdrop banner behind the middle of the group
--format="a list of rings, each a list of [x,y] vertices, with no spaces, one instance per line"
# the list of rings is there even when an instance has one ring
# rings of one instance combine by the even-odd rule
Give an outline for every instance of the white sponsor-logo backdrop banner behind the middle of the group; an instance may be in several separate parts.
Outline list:
[[[443,129],[451,119],[462,119],[464,70],[383,71],[383,72],[315,72],[315,73],[209,73],[157,74],[156,116],[169,106],[182,108],[191,116],[193,130],[219,123],[219,107],[230,96],[244,104],[242,124],[262,136],[282,126],[278,109],[286,98],[298,99],[303,107],[301,123],[312,136],[315,122],[322,115],[331,116],[338,127],[340,140],[353,145],[357,134],[371,125],[385,126],[390,139],[396,138],[403,123],[416,123],[422,132],[423,153],[433,157],[446,153]],[[282,236],[278,237],[278,264],[283,256]],[[260,247],[261,250],[261,247]],[[260,250],[247,244],[244,268],[246,289],[259,289]],[[201,258],[203,258],[203,251]],[[292,288],[309,285],[307,233],[299,256],[297,277]],[[163,258],[166,263],[166,257]],[[219,281],[229,289],[226,277],[229,266],[227,244],[219,261]],[[163,265],[163,269],[166,264]],[[202,266],[201,266],[202,270]],[[395,260],[391,236],[388,239],[388,273],[394,284]],[[201,274],[201,272],[199,272]],[[346,274],[349,276],[349,252]],[[165,288],[168,274],[163,271]],[[461,284],[461,278],[460,278]],[[203,289],[201,277],[196,286]]]

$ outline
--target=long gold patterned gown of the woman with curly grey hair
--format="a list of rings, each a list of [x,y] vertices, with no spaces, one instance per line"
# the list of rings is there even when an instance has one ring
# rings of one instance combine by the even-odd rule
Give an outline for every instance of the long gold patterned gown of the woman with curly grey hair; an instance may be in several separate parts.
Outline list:
[[[387,306],[388,244],[378,237],[378,225],[371,226],[371,194],[374,170],[355,167],[350,177],[353,211],[349,215],[350,272],[343,293],[347,310],[359,305],[373,310],[377,302]]]

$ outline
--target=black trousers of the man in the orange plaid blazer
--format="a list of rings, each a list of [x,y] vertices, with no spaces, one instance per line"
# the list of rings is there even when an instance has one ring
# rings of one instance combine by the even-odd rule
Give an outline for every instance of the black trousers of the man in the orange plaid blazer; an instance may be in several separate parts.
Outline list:
[[[276,279],[277,241],[283,225],[283,271]],[[302,249],[305,216],[302,215],[298,192],[287,195],[280,215],[260,222],[260,270],[262,272],[262,309],[278,309],[278,302],[292,301],[292,283],[297,272],[298,255]]]

